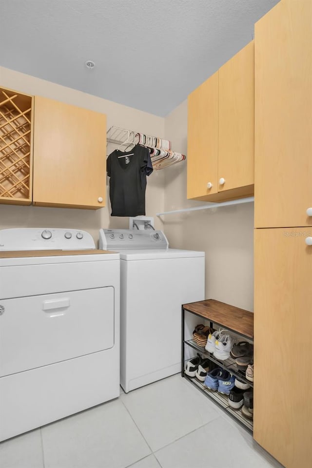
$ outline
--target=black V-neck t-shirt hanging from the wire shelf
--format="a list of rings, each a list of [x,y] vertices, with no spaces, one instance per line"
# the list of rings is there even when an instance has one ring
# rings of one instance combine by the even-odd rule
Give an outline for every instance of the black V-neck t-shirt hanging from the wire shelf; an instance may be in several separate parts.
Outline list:
[[[152,172],[150,151],[143,146],[136,145],[126,152],[115,150],[108,156],[112,216],[145,215],[146,176]]]

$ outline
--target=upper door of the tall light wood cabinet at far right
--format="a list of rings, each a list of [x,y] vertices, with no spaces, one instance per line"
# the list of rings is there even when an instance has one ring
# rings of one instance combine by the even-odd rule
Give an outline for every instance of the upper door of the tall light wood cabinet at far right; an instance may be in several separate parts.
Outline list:
[[[312,1],[255,24],[255,226],[312,226]]]

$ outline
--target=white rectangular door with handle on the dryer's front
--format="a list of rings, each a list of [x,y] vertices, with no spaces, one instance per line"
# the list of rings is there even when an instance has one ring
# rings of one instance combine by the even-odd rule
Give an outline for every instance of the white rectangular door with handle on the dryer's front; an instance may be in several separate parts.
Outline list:
[[[114,346],[114,288],[0,300],[0,376]]]

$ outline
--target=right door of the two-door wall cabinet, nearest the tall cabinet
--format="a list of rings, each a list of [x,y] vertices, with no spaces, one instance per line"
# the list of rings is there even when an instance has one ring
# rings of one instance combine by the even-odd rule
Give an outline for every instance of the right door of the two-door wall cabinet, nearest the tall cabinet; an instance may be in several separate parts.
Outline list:
[[[253,194],[254,41],[219,70],[218,133],[218,191],[250,186]]]

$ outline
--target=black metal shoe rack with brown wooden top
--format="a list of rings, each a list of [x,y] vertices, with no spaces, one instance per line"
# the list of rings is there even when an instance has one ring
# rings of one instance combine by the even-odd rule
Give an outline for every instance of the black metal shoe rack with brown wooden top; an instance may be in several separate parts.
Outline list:
[[[205,321],[209,321],[210,327],[222,327],[228,331],[233,331],[235,334],[243,339],[253,342],[254,339],[254,314],[252,312],[239,309],[229,304],[208,299],[206,301],[193,302],[191,304],[182,305],[182,353],[181,353],[181,375],[193,384],[198,390],[204,393],[208,398],[215,401],[215,403],[224,409],[230,416],[236,419],[241,425],[253,432],[253,421],[246,418],[241,409],[234,409],[229,406],[228,396],[218,393],[217,391],[209,390],[204,387],[204,383],[196,379],[196,377],[189,377],[184,373],[185,360],[185,346],[193,348],[199,352],[204,358],[210,359],[212,365],[211,369],[221,367],[231,372],[242,382],[247,383],[254,387],[253,382],[246,379],[245,373],[237,369],[235,360],[232,358],[220,361],[215,358],[213,353],[208,352],[205,348],[198,346],[194,340],[185,340],[185,312],[190,312],[197,315]],[[188,359],[187,359],[188,360]]]

